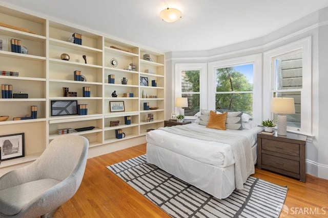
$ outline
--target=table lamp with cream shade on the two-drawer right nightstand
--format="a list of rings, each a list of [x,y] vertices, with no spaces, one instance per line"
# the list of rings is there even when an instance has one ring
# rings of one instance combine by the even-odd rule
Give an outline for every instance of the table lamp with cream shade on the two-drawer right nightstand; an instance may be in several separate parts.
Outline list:
[[[293,98],[272,98],[271,112],[279,113],[277,130],[278,135],[287,135],[287,117],[283,114],[295,113],[295,104]]]

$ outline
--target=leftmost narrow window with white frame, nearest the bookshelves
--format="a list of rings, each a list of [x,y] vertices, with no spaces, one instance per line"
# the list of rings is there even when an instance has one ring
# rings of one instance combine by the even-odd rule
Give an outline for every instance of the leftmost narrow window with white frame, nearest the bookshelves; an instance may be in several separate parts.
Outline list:
[[[206,108],[207,64],[175,64],[175,72],[175,98],[188,98],[188,107],[183,108],[185,117],[194,118],[201,108]],[[177,112],[177,108],[173,111]]]

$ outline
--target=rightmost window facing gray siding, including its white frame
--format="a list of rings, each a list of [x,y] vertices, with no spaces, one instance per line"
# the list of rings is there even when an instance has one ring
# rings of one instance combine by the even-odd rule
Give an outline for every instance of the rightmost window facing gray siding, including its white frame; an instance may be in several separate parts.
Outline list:
[[[311,135],[311,37],[264,53],[263,119],[274,119],[271,98],[294,98],[287,130]]]

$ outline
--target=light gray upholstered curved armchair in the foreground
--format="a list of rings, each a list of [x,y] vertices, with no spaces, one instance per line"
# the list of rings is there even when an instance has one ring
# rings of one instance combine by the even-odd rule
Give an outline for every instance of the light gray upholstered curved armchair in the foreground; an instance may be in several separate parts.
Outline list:
[[[72,198],[81,184],[89,141],[53,139],[33,163],[0,177],[0,217],[45,216]]]

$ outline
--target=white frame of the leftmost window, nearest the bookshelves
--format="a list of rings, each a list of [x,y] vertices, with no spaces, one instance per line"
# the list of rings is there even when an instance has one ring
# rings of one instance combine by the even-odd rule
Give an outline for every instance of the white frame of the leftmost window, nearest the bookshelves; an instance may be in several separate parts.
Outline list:
[[[205,108],[207,95],[207,63],[176,63],[175,64],[175,94],[172,105],[172,111],[179,113],[178,108],[175,107],[175,99],[182,96],[181,91],[181,71],[184,70],[199,70],[199,92],[183,92],[199,94],[199,108]],[[196,119],[195,116],[185,116],[185,119]]]

